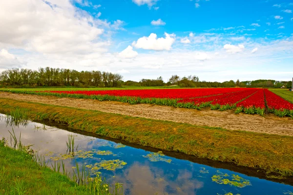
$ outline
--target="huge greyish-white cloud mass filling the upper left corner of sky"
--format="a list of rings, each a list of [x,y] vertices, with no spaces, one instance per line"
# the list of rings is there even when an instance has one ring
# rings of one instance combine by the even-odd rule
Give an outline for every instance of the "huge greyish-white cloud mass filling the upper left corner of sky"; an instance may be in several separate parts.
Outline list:
[[[111,27],[70,0],[0,1],[0,18],[1,43],[47,54],[105,51],[99,37]]]

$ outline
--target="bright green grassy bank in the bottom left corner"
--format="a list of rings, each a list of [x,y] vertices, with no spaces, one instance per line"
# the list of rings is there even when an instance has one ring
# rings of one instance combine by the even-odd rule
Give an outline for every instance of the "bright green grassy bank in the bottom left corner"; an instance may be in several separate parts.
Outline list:
[[[0,195],[109,195],[109,193],[97,193],[91,186],[77,185],[66,175],[41,167],[34,160],[33,155],[4,146],[4,142],[0,141]]]

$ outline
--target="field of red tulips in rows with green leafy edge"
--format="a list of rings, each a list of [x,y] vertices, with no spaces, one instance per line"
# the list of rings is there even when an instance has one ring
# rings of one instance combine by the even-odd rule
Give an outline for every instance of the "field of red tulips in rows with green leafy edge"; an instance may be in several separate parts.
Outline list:
[[[87,98],[99,101],[119,101],[129,104],[156,104],[179,108],[212,110],[235,109],[235,113],[274,113],[293,117],[293,104],[262,88],[202,88],[202,89],[128,89],[27,91],[22,93]]]

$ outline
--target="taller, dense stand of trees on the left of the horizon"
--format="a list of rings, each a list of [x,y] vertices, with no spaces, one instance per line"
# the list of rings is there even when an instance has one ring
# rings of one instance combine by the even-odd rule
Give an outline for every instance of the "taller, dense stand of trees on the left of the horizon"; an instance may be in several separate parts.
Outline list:
[[[20,87],[120,87],[123,76],[111,72],[77,71],[63,68],[8,69],[0,73],[3,86]]]

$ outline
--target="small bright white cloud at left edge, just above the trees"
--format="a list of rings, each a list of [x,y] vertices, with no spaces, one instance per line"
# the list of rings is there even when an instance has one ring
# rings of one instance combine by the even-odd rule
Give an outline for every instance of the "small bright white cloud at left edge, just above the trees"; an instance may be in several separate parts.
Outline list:
[[[0,50],[0,69],[20,67],[21,62],[6,49]]]

